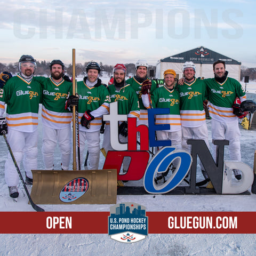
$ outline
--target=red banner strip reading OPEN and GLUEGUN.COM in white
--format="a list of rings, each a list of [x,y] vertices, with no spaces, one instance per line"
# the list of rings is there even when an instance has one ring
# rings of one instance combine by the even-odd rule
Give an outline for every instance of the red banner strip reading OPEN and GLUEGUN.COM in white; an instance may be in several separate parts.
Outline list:
[[[108,234],[109,212],[0,212],[2,234]],[[256,233],[255,212],[146,212],[149,234]]]

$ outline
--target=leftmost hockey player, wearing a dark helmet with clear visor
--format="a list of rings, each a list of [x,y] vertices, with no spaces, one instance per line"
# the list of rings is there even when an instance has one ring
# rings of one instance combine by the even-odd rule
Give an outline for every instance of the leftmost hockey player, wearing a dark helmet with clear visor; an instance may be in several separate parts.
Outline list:
[[[37,125],[42,88],[33,79],[36,61],[31,55],[21,56],[19,70],[20,73],[11,77],[4,85],[4,89],[0,91],[0,117],[2,122],[5,122],[3,115],[6,103],[8,140],[18,165],[23,158],[25,182],[31,185],[33,183],[31,170],[37,169]],[[2,130],[0,132],[2,134]],[[9,187],[10,196],[17,198],[19,175],[10,154],[5,162],[5,181]]]

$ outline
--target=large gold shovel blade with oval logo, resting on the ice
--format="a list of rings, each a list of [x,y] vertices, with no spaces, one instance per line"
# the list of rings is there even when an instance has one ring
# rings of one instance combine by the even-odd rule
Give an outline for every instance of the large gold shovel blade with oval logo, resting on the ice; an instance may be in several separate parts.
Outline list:
[[[35,204],[116,204],[117,171],[32,170]]]

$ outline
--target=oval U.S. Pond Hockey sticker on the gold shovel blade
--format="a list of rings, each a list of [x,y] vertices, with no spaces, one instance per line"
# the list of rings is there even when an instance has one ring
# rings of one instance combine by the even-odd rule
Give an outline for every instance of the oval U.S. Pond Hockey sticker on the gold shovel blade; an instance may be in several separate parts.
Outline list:
[[[60,200],[70,203],[83,196],[89,188],[89,181],[85,178],[76,178],[69,181],[60,192]]]

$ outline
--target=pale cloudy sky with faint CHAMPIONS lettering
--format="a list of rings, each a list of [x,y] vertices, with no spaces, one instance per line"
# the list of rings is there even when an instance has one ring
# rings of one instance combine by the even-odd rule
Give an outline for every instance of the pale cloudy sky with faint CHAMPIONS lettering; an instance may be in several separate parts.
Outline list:
[[[1,5],[0,62],[95,60],[114,65],[159,59],[199,46],[256,67],[256,4],[221,1],[44,1]]]

